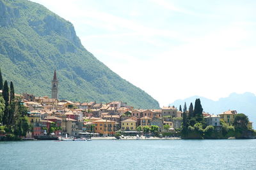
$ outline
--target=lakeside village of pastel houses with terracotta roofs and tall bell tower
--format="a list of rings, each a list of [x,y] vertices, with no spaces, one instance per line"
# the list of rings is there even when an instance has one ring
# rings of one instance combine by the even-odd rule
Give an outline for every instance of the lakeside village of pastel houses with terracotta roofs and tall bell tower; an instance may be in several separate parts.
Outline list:
[[[58,100],[58,79],[56,71],[52,80],[52,97],[36,97],[24,93],[19,95],[22,104],[28,108],[28,120],[33,129],[28,138],[44,136],[91,136],[109,137],[118,134],[138,136],[138,134],[157,132],[158,136],[179,136],[184,112],[175,106],[161,109],[134,109],[122,101],[109,103],[88,103]],[[186,111],[188,115],[188,111]],[[221,131],[221,120],[228,125],[234,124],[236,110],[223,111],[219,115],[203,112],[207,125],[214,131]],[[252,129],[252,122],[248,122]],[[152,131],[154,127],[154,131]],[[150,131],[151,130],[151,131]],[[156,134],[156,133],[155,133]],[[176,134],[176,135],[175,135]],[[44,139],[44,138],[43,138]]]

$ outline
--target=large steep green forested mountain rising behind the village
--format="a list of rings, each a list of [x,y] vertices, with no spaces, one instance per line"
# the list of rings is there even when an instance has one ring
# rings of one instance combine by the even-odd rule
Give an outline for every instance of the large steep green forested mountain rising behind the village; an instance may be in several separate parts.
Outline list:
[[[0,60],[3,78],[13,81],[18,93],[50,96],[56,69],[60,99],[159,108],[155,99],[88,52],[70,22],[37,3],[0,0]]]

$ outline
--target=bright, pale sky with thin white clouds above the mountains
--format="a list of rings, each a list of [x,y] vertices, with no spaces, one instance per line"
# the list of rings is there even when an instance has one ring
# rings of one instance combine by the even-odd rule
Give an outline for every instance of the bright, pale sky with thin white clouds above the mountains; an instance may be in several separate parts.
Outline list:
[[[33,1],[72,22],[89,52],[160,106],[256,94],[256,1]]]

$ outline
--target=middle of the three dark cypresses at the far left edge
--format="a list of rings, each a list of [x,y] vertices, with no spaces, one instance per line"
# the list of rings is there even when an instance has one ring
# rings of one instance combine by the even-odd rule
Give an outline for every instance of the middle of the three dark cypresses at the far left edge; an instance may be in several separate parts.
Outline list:
[[[7,125],[9,122],[9,87],[8,87],[8,83],[6,80],[4,81],[4,87],[3,87],[2,94],[3,94],[3,98],[4,98],[4,102],[5,102],[3,124]]]

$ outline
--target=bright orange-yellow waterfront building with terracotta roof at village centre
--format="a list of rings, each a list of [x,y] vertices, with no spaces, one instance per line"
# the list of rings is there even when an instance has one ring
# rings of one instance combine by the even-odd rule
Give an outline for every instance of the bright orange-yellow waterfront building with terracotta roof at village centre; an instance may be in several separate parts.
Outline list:
[[[116,122],[111,120],[95,120],[95,132],[104,136],[112,136],[116,131]]]

